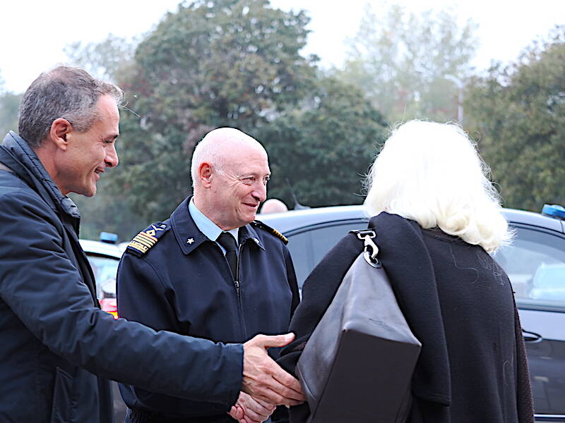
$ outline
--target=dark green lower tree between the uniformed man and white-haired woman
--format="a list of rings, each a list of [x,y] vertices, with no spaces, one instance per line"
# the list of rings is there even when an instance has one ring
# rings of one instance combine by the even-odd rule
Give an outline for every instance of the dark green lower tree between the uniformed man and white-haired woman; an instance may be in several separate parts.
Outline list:
[[[273,177],[268,197],[290,207],[359,204],[362,178],[386,135],[383,117],[356,87],[323,78],[309,105],[256,131]]]

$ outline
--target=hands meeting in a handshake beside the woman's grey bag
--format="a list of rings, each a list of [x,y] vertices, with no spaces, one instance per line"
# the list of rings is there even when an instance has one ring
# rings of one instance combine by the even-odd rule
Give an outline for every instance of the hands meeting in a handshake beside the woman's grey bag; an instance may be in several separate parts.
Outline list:
[[[268,355],[271,347],[284,347],[294,334],[257,335],[243,345],[242,391],[229,414],[240,423],[261,423],[277,405],[304,402],[300,382],[281,369]]]

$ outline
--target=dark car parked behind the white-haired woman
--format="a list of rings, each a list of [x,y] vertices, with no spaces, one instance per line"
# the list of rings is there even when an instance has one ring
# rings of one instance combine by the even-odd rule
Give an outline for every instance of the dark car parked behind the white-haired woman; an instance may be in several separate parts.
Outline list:
[[[504,215],[516,238],[494,257],[516,292],[536,421],[565,422],[565,222],[555,216],[512,209],[505,209]],[[289,239],[301,288],[310,271],[340,238],[352,229],[367,227],[369,221],[361,206],[262,214],[257,219]]]

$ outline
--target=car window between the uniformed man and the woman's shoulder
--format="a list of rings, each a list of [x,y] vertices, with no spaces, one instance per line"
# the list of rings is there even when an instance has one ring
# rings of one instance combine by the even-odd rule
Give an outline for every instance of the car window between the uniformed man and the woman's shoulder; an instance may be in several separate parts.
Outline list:
[[[288,235],[288,249],[295,264],[298,286],[302,285],[312,269],[349,231],[367,228],[366,221],[350,221],[318,227],[304,228]]]

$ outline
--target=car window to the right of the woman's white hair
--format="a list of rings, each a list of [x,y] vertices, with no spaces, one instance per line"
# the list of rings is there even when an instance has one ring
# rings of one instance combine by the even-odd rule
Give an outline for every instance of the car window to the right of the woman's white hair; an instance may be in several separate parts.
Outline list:
[[[565,306],[565,238],[516,228],[512,245],[494,255],[512,283],[516,300]]]

